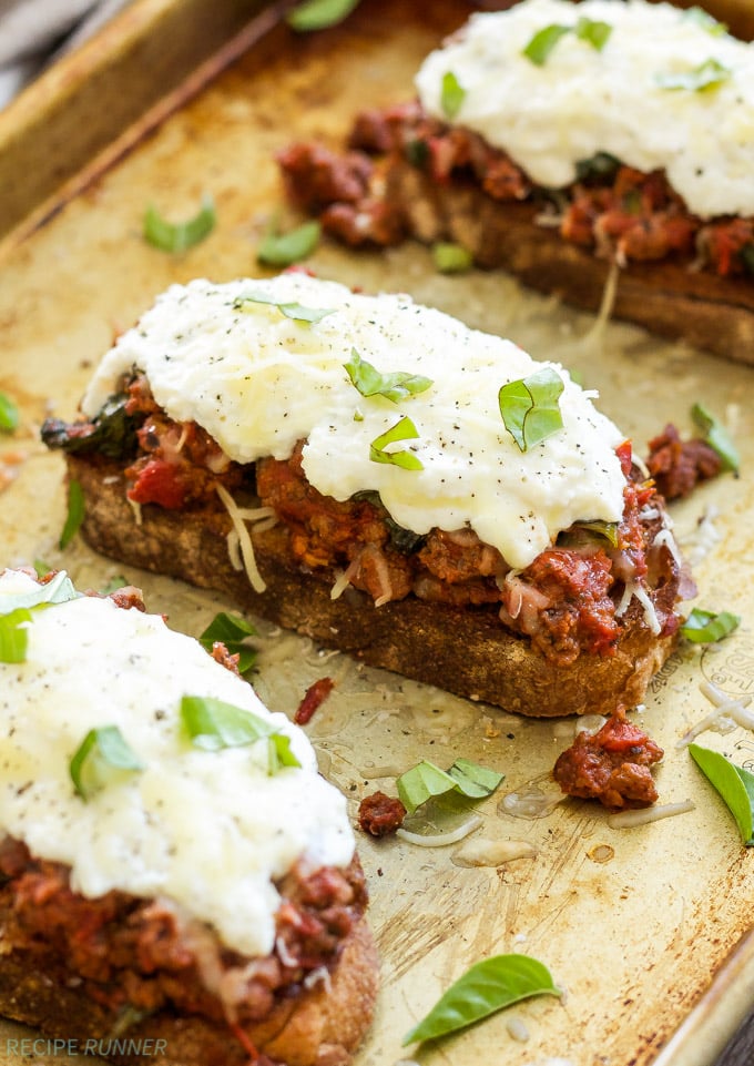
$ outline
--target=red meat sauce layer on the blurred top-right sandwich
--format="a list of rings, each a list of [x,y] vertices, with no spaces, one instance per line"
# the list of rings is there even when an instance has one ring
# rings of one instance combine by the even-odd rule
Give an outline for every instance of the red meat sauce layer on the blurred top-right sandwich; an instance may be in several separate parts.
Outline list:
[[[349,150],[293,144],[278,154],[291,200],[318,214],[325,230],[350,245],[399,243],[405,212],[375,193],[375,155],[395,153],[441,185],[471,179],[500,202],[549,197],[560,234],[619,263],[684,257],[721,276],[754,271],[754,219],[703,222],[672,190],[663,171],[644,173],[598,155],[580,181],[557,193],[536,189],[505,152],[477,133],[430,119],[418,102],[358,115]],[[548,204],[543,204],[548,206]]]

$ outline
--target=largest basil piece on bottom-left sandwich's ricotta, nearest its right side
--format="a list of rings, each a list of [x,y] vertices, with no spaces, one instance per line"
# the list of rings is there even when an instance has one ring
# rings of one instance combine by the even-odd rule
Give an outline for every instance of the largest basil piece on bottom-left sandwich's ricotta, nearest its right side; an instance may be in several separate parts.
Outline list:
[[[271,722],[242,707],[212,697],[184,696],[181,721],[195,748],[221,751],[223,748],[243,748],[266,738],[268,773],[275,773],[281,765],[300,766],[291,751],[291,738],[276,732]]]

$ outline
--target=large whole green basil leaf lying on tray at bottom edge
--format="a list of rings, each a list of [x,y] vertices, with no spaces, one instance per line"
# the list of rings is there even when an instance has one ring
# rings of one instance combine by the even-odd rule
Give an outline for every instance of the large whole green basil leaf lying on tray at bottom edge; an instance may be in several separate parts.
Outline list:
[[[529,955],[493,955],[476,963],[406,1034],[401,1046],[456,1033],[529,996],[560,996],[550,972]]]

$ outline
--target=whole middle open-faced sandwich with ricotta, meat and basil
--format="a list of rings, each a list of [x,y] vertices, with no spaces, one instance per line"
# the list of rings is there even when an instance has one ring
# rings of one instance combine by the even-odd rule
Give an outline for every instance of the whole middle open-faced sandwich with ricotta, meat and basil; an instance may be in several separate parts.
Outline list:
[[[591,395],[408,296],[294,272],[172,286],[43,437],[109,556],[460,696],[611,713],[690,587]]]

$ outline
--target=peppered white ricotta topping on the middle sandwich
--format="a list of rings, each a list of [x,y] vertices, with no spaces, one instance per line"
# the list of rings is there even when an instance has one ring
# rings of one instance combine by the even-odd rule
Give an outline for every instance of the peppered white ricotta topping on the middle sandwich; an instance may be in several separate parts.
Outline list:
[[[318,322],[287,317],[267,300],[329,311]],[[357,352],[381,373],[431,379],[393,403],[363,396],[344,365]],[[563,428],[521,451],[506,429],[502,385],[543,365],[562,378]],[[400,526],[418,534],[467,524],[513,567],[526,567],[577,519],[617,521],[623,439],[557,364],[536,363],[510,341],[469,329],[405,295],[365,296],[299,273],[224,285],[174,285],[105,355],[83,400],[93,416],[120,375],[142,369],[156,402],[194,419],[240,463],[285,459],[307,438],[304,470],[338,500],[378,491]],[[371,445],[410,418],[408,450],[421,469],[370,458]]]

